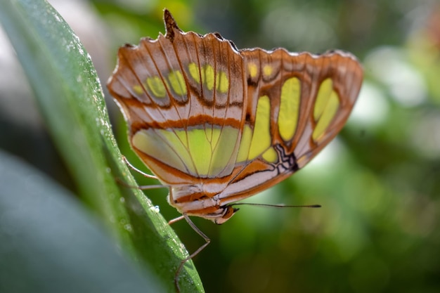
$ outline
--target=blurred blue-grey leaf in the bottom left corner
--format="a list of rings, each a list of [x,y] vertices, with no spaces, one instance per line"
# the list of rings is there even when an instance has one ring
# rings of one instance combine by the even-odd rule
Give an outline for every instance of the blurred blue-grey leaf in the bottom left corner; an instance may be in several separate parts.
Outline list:
[[[0,292],[164,292],[67,190],[0,151]]]

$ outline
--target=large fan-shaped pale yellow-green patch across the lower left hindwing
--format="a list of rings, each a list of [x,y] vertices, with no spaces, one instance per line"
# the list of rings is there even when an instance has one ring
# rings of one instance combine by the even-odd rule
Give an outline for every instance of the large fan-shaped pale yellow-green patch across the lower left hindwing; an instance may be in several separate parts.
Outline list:
[[[238,129],[207,126],[206,129],[148,129],[134,134],[132,143],[145,154],[193,176],[215,177],[231,172]],[[229,164],[229,165],[228,165]]]

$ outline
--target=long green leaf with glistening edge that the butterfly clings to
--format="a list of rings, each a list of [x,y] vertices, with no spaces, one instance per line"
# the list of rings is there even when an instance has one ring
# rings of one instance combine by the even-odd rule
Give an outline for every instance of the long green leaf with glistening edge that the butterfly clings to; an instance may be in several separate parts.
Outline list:
[[[116,183],[119,178],[136,184],[122,162],[101,85],[78,37],[43,0],[1,1],[0,21],[79,194],[119,247],[174,292],[174,272],[188,253],[143,193]],[[191,261],[180,284],[182,292],[203,292]]]

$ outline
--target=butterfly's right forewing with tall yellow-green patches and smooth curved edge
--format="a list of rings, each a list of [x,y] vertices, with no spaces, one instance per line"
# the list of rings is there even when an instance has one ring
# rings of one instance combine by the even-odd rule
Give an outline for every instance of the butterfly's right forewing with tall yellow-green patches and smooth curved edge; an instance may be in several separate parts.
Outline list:
[[[342,129],[363,79],[356,58],[342,51],[240,53],[247,76],[246,122],[221,204],[258,193],[304,167]]]

